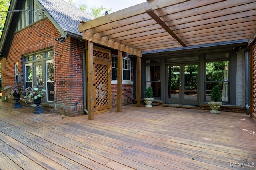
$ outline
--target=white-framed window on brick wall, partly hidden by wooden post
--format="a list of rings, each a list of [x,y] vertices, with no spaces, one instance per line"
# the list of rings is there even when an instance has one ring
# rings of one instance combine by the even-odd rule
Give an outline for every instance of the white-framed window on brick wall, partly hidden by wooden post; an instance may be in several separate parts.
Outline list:
[[[131,83],[131,61],[123,57],[122,60],[122,83]],[[117,83],[117,57],[112,56],[112,84]]]

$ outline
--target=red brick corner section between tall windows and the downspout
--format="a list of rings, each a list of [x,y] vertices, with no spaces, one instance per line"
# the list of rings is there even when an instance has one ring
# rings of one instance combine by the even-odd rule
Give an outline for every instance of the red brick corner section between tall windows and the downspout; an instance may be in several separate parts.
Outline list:
[[[83,68],[84,43],[74,38],[57,41],[55,46],[56,111],[76,116],[83,111]]]

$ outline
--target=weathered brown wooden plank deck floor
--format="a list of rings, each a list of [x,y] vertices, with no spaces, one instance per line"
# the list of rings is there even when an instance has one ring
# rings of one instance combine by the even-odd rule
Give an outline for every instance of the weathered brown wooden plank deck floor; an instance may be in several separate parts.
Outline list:
[[[0,102],[1,170],[255,169],[256,121],[241,113],[123,106],[35,115]]]

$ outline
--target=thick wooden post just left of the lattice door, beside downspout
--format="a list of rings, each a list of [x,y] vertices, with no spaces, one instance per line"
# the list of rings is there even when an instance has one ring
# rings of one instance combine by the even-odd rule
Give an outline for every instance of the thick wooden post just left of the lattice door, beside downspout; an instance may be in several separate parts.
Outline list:
[[[94,96],[92,93],[93,90],[93,43],[90,41],[86,41],[85,46],[87,45],[86,51],[86,100],[87,100],[87,107],[88,107],[88,119],[94,119]]]

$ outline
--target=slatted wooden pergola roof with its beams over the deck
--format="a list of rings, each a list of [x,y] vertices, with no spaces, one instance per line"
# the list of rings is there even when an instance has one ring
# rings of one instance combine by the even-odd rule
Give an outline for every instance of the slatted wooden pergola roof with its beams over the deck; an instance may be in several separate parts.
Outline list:
[[[79,25],[83,39],[142,56],[143,51],[256,36],[255,0],[149,0]]]

